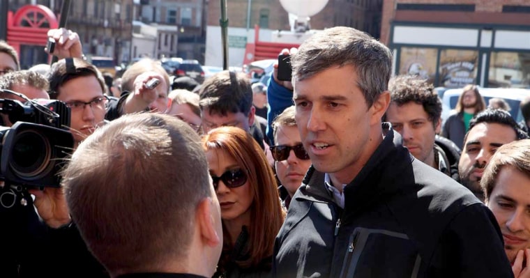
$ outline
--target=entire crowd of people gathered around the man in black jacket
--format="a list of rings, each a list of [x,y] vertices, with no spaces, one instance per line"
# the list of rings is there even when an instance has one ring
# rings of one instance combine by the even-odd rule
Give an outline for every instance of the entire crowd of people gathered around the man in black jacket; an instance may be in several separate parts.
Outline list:
[[[1,277],[530,277],[530,98],[517,123],[469,85],[442,123],[432,84],[349,27],[266,85],[152,59],[106,80],[48,36],[45,75],[0,43],[0,97],[63,102],[72,154],[61,187],[0,187]]]

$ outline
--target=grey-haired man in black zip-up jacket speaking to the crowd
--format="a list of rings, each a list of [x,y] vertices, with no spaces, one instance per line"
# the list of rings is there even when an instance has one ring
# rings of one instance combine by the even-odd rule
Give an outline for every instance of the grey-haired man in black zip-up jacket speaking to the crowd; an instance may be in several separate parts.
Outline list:
[[[392,53],[349,27],[292,56],[312,166],[275,242],[274,277],[512,277],[490,210],[415,160],[390,123]]]

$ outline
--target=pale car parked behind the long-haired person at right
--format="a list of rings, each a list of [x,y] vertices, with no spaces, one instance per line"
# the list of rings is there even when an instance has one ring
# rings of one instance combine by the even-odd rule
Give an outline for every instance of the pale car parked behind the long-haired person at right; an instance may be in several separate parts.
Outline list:
[[[503,98],[510,105],[510,114],[515,121],[522,121],[520,103],[524,98],[530,95],[530,89],[524,88],[478,88],[480,95],[483,96],[486,106],[490,98]],[[462,94],[462,88],[453,88],[444,92],[441,99],[441,121],[445,123],[450,115],[450,111],[455,109],[458,97]]]

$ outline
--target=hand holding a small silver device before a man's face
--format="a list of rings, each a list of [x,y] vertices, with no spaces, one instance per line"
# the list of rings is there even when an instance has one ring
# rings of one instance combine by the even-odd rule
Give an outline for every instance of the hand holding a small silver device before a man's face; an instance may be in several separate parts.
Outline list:
[[[125,114],[144,111],[151,102],[158,99],[159,90],[162,90],[164,86],[156,86],[152,89],[147,88],[146,83],[151,79],[158,79],[162,82],[164,77],[158,72],[144,72],[135,78],[133,83],[135,89],[130,92],[125,105],[123,105]]]

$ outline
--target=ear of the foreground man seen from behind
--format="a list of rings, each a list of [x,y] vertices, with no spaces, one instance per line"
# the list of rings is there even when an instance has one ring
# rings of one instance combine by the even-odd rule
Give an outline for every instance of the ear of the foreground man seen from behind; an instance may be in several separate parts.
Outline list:
[[[197,210],[195,211],[195,220],[197,225],[199,225],[201,238],[207,245],[215,247],[222,244],[221,235],[218,235],[217,230],[215,229],[221,222],[220,213],[219,210],[215,208],[213,199],[209,197],[200,201],[199,206],[197,206]]]

